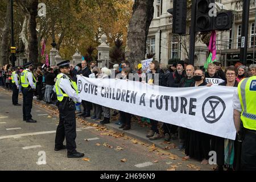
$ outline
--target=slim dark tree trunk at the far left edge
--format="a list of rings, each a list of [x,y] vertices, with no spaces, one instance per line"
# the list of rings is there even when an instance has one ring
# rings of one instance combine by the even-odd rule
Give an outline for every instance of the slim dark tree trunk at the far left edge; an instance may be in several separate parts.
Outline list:
[[[5,27],[3,27],[3,35],[1,42],[1,56],[0,56],[0,65],[6,65],[9,63],[9,40],[10,40],[10,25],[11,25],[11,3],[7,2],[7,9],[5,15]]]

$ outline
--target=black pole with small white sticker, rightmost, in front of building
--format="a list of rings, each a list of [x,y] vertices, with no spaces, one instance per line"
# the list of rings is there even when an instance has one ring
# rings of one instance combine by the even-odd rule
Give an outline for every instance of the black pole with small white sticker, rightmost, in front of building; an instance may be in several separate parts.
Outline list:
[[[241,32],[241,48],[240,48],[240,61],[241,63],[243,63],[243,65],[246,65],[246,61],[247,61],[249,11],[250,11],[250,0],[243,0],[243,16],[242,16],[242,32]]]

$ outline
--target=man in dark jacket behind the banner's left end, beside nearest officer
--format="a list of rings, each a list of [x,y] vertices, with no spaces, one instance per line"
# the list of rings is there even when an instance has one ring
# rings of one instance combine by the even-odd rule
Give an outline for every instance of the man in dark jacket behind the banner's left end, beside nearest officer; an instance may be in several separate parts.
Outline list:
[[[85,77],[89,77],[90,74],[92,74],[92,72],[90,71],[90,68],[87,67],[87,61],[84,60],[82,61],[82,69],[81,71],[79,71],[77,74],[79,75],[82,75],[82,76],[85,76]],[[82,100],[82,107],[84,107],[84,111],[79,114],[79,116],[82,116],[82,117],[90,117],[90,109],[92,107],[92,103],[91,102],[88,102],[88,101],[83,101]]]

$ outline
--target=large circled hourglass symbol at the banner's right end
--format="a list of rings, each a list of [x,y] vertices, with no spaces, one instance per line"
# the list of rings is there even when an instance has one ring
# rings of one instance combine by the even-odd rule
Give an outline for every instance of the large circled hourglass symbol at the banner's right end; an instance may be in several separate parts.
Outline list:
[[[208,97],[203,104],[202,113],[204,120],[208,123],[217,122],[226,109],[225,102],[217,96]]]

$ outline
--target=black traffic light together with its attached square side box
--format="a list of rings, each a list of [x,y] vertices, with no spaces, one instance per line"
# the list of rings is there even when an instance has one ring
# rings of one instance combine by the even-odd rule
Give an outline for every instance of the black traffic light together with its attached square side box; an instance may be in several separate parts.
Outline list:
[[[214,16],[213,8],[216,8],[216,5],[210,6],[210,3],[214,2],[214,0],[196,1],[196,32],[228,30],[232,28],[232,11],[220,12]]]

